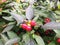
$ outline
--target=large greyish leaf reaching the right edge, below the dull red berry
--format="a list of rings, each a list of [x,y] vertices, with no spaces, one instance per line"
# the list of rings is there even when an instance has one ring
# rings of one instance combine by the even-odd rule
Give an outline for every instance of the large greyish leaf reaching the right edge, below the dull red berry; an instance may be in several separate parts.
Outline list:
[[[49,22],[42,26],[44,29],[60,29],[60,23],[58,22]]]

